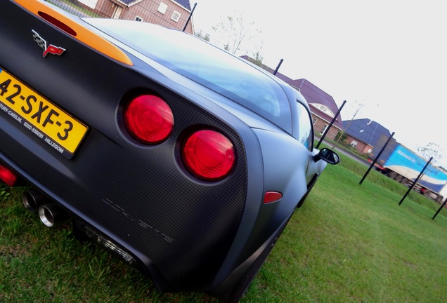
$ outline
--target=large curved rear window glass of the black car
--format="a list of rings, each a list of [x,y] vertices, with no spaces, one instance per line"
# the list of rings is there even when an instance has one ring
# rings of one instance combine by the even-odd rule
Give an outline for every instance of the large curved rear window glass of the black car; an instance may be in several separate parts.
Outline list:
[[[86,19],[115,39],[165,67],[291,129],[284,90],[250,64],[189,34],[145,22]]]

